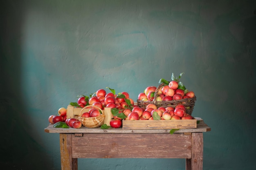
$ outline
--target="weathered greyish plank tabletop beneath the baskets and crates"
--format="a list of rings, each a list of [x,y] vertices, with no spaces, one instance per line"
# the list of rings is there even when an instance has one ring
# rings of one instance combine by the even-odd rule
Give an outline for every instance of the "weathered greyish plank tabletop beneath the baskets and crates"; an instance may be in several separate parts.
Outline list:
[[[146,130],[127,130],[122,128],[109,128],[109,129],[101,129],[101,128],[86,128],[82,126],[79,129],[76,128],[54,128],[52,124],[49,124],[47,128],[45,128],[45,132],[47,133],[169,133],[171,129],[146,129]],[[208,132],[211,128],[204,123],[204,121],[200,121],[197,124],[197,128],[193,129],[180,129],[175,131],[174,133],[185,133],[185,132]]]

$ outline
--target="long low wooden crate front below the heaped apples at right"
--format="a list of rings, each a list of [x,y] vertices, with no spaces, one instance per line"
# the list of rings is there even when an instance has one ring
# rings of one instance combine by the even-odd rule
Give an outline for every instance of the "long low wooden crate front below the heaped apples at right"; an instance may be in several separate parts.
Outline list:
[[[191,129],[196,119],[181,120],[123,120],[123,129]]]

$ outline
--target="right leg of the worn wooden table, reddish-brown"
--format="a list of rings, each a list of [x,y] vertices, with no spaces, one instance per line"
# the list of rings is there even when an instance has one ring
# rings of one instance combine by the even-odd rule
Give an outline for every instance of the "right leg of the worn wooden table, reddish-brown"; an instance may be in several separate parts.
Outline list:
[[[192,158],[186,159],[186,170],[203,169],[203,133],[192,133]]]

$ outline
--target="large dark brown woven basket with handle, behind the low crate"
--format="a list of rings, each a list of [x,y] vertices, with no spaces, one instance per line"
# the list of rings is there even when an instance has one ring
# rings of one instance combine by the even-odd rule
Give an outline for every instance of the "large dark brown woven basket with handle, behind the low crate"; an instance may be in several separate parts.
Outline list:
[[[193,108],[195,106],[196,97],[185,98],[185,99],[180,99],[180,100],[156,101],[157,93],[158,93],[159,89],[161,89],[163,86],[166,86],[166,84],[162,83],[157,87],[157,89],[155,91],[155,96],[154,96],[153,101],[142,101],[142,100],[138,99],[137,100],[137,105],[139,107],[142,107],[142,108],[146,108],[146,106],[148,104],[155,104],[157,106],[157,108],[159,108],[159,107],[164,107],[164,108],[173,107],[173,108],[175,108],[178,104],[182,104],[186,108],[186,113],[189,114],[189,115],[192,115]]]

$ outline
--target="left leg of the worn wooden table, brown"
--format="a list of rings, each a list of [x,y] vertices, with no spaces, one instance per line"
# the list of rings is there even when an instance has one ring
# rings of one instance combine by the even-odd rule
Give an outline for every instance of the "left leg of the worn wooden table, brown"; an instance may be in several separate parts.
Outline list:
[[[72,158],[72,134],[60,133],[61,170],[77,170],[77,158]]]

